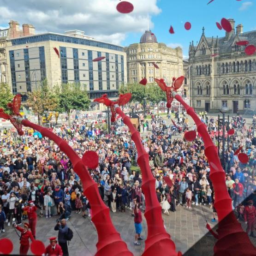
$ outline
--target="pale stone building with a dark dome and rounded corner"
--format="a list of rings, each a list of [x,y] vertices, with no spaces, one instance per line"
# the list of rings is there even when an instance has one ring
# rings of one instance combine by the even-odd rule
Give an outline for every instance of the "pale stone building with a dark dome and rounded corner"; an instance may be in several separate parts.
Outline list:
[[[127,54],[127,78],[129,83],[138,83],[146,77],[148,83],[155,83],[154,78],[164,78],[168,85],[173,77],[183,74],[182,49],[167,47],[158,43],[151,30],[146,30],[140,43],[125,48]],[[153,63],[159,66],[155,68]]]

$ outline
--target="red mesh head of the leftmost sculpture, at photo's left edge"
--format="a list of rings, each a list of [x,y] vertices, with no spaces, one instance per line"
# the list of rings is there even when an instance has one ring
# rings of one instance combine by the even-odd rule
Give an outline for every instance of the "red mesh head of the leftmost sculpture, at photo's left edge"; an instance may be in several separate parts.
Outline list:
[[[20,105],[21,96],[17,94],[14,96],[12,103],[7,104],[7,107],[12,110],[12,113],[9,115],[5,113],[2,108],[0,108],[0,118],[10,120],[12,125],[17,129],[18,134],[23,135],[22,125],[17,122],[17,119],[22,117],[19,113]]]

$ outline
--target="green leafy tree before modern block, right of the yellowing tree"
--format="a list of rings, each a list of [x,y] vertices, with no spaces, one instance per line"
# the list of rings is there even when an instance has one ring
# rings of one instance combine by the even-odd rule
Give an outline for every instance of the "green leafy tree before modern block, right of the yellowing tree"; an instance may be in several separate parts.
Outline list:
[[[70,115],[74,110],[86,110],[89,108],[90,100],[86,89],[81,89],[79,83],[63,83],[59,92],[60,112],[66,112],[68,124],[71,126]]]

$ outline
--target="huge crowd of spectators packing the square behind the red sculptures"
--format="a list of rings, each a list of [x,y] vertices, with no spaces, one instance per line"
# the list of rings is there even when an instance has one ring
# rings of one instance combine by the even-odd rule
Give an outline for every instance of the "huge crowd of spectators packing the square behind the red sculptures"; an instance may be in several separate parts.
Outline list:
[[[166,119],[152,114],[150,121],[145,119],[141,123],[141,140],[149,153],[156,196],[163,214],[175,212],[181,206],[190,210],[208,205],[214,211],[212,221],[216,221],[214,189],[202,139],[198,136],[193,142],[185,141],[184,131],[196,130],[196,126],[185,116],[178,114],[177,117],[176,124],[168,125]],[[208,118],[205,113],[201,118],[217,146],[216,118]],[[233,117],[229,125],[235,133],[226,134],[229,136],[225,150],[226,187],[238,218],[247,220],[244,206],[248,200],[256,206],[256,116],[248,126],[242,116]],[[101,198],[113,213],[130,210],[135,223],[141,222],[143,177],[136,164],[135,144],[123,122],[118,119],[110,134],[97,121],[88,121],[84,116],[75,119],[71,127],[63,124],[50,129],[66,140],[80,157],[86,150],[97,152],[99,165],[89,172],[98,185]],[[176,129],[178,134],[174,136]],[[234,154],[241,146],[242,152],[249,156],[247,164],[242,164]],[[221,149],[220,142],[220,156]],[[164,176],[172,180],[173,186],[167,185]],[[91,209],[71,162],[55,143],[30,128],[24,129],[22,137],[14,129],[4,129],[0,132],[0,232],[5,232],[4,225],[11,226],[12,218],[18,228],[28,219],[32,240],[36,238],[37,214],[42,218],[58,215],[64,223],[72,214],[91,217]],[[141,227],[135,226],[136,233],[141,232]],[[55,229],[60,230],[59,224]],[[254,236],[252,228],[248,232]],[[141,239],[143,237],[137,233],[134,244],[139,245]],[[68,255],[66,240],[59,239],[59,244],[64,255]]]

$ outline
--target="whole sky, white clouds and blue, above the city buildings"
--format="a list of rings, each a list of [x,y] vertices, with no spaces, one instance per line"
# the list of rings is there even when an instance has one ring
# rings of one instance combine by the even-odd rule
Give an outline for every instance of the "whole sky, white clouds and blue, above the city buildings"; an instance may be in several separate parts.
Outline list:
[[[137,43],[148,28],[158,42],[170,47],[181,47],[188,58],[189,44],[196,44],[205,27],[205,35],[224,36],[216,22],[233,18],[243,24],[244,31],[256,30],[256,0],[127,0],[134,5],[133,12],[121,14],[119,0],[0,0],[0,28],[8,27],[10,19],[19,24],[33,24],[36,33],[65,30],[83,30],[96,40],[128,46]],[[184,28],[185,22],[192,25]],[[173,26],[175,34],[169,33]]]

